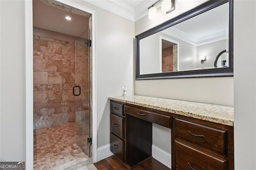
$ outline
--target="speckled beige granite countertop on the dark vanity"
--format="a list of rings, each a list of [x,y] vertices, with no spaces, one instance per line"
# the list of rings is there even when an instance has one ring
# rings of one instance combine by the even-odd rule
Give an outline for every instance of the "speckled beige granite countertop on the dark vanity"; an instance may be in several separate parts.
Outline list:
[[[234,126],[234,107],[231,106],[138,95],[108,97],[108,99],[223,125]]]

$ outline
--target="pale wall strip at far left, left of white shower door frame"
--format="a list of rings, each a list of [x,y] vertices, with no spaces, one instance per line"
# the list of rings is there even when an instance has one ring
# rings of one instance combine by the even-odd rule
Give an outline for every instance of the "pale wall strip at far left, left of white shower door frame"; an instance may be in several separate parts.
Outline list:
[[[1,0],[0,4],[0,161],[25,161],[24,1]]]

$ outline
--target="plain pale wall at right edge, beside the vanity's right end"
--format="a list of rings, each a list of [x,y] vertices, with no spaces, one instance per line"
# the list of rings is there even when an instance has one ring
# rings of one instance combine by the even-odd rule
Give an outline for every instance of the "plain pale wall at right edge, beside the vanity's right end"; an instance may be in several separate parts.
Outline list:
[[[236,170],[256,169],[256,1],[234,1]]]

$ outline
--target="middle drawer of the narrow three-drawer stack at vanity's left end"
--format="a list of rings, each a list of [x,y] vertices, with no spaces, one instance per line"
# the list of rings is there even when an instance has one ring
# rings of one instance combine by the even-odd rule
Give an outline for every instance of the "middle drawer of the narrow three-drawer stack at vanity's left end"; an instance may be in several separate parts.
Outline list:
[[[110,114],[110,132],[124,138],[124,118]]]

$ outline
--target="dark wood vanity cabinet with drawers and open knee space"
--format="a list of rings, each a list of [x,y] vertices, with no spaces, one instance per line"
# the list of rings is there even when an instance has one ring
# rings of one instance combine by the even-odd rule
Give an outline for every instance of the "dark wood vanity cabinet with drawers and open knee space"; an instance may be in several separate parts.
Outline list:
[[[110,150],[133,168],[152,156],[152,123],[171,128],[172,170],[234,170],[233,127],[110,102]]]

